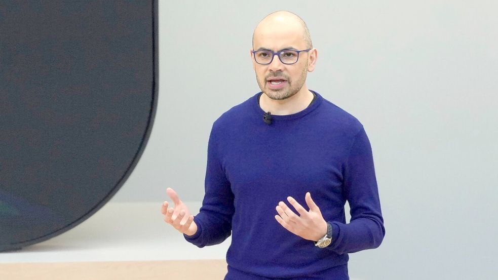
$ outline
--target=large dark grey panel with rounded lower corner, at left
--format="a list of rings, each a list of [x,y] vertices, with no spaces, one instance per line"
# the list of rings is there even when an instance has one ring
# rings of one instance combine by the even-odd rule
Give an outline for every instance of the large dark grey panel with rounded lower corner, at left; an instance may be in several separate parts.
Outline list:
[[[0,251],[63,233],[109,201],[157,100],[157,0],[3,0]]]

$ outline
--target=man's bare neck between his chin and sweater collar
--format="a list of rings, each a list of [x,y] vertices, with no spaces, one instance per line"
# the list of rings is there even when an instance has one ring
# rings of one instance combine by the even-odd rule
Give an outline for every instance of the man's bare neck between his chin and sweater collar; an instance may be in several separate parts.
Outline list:
[[[259,98],[259,107],[265,112],[270,111],[272,115],[289,115],[304,110],[313,97],[313,93],[305,85],[293,96],[282,100],[271,99],[263,92]]]

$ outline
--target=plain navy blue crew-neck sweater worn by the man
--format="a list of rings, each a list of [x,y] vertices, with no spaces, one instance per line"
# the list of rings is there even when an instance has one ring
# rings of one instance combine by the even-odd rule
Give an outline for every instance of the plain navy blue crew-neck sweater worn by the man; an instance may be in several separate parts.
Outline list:
[[[261,92],[213,123],[205,196],[194,218],[198,231],[184,237],[202,248],[232,234],[225,279],[348,279],[348,253],[377,248],[384,238],[372,149],[363,125],[312,92],[317,97],[307,108],[272,115],[270,125],[262,119]],[[287,196],[309,210],[304,200],[308,191],[332,225],[332,243],[323,249],[275,219],[280,201],[294,210]],[[350,223],[344,215],[346,201]]]

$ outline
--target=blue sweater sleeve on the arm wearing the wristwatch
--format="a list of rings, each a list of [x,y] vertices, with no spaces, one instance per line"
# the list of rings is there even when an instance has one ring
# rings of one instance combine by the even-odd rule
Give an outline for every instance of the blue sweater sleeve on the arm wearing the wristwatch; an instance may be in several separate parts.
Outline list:
[[[377,248],[386,230],[380,212],[372,149],[363,126],[353,139],[342,172],[351,220],[349,224],[328,221],[332,225],[332,244],[326,248],[337,254]]]

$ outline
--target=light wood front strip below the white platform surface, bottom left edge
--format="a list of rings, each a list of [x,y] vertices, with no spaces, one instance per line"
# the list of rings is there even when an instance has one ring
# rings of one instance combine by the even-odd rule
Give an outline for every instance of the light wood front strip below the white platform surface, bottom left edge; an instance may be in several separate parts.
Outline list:
[[[225,274],[225,260],[0,264],[6,280],[222,280]]]

